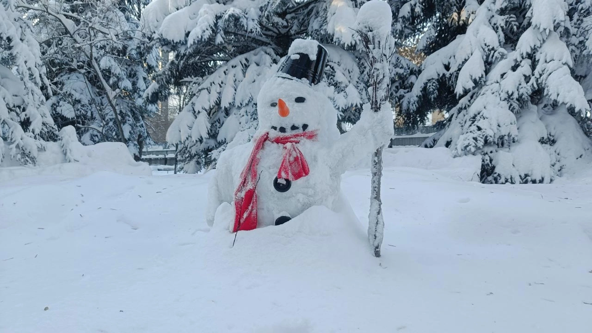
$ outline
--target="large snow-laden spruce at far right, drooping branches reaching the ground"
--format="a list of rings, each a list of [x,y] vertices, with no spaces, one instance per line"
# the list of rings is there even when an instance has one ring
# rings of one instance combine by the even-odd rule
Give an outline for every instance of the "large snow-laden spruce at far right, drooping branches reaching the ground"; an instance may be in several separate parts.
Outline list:
[[[570,72],[567,12],[563,0],[483,1],[466,34],[427,57],[403,104],[455,92],[445,129],[425,145],[480,154],[481,181],[496,183],[549,182],[590,151],[570,115],[589,106]]]

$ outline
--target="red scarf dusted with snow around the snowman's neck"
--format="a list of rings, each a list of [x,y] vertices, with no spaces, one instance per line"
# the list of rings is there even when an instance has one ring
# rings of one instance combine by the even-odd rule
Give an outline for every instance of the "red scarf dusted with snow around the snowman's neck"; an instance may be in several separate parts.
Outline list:
[[[263,143],[269,141],[284,145],[284,156],[281,165],[279,165],[278,179],[292,181],[305,177],[310,172],[308,163],[296,144],[304,139],[315,140],[316,138],[317,131],[274,137],[269,137],[269,132],[265,132],[255,140],[247,165],[244,166],[243,172],[240,173],[239,186],[234,191],[233,232],[257,228],[257,193],[255,188],[259,181],[257,166],[259,165],[259,152],[263,149]]]

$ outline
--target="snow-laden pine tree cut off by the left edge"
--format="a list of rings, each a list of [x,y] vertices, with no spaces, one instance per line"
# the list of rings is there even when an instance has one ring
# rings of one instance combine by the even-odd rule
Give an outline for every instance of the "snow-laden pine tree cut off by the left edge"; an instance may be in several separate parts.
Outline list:
[[[14,0],[0,5],[0,164],[35,164],[57,129],[46,107],[49,87],[30,21]],[[46,94],[50,94],[46,90]],[[3,163],[4,161],[4,163]]]

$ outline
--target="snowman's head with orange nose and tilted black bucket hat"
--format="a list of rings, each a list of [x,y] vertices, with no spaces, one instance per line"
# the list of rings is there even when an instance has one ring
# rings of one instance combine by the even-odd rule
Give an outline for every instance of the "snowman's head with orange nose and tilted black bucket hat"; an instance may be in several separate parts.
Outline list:
[[[259,133],[286,135],[316,130],[317,140],[339,137],[337,110],[321,82],[327,50],[315,40],[295,40],[278,73],[263,84],[257,98]]]

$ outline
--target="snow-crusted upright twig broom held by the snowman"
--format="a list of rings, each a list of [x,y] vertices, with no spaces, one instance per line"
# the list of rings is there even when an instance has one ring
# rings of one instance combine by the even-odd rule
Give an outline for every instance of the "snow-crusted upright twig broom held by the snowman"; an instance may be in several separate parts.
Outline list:
[[[370,108],[379,112],[382,108],[390,110],[388,103],[388,86],[390,76],[388,65],[394,49],[391,38],[391,7],[387,2],[371,0],[362,5],[358,12],[356,31],[362,40],[368,61],[368,89]],[[380,198],[380,183],[382,177],[382,149],[380,147],[372,154],[371,163],[371,195],[370,213],[368,215],[368,239],[374,256],[380,257],[380,246],[384,233],[384,217],[382,216],[382,201]]]

